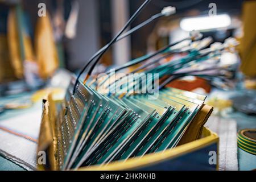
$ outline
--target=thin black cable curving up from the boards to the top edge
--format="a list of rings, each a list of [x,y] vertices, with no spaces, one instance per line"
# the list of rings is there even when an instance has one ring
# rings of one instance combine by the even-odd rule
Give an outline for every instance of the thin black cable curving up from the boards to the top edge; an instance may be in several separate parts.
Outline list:
[[[122,30],[117,34],[117,36],[115,36],[115,38],[108,44],[108,46],[106,46],[105,49],[102,49],[102,52],[98,52],[96,53],[96,55],[94,55],[88,62],[88,64],[85,65],[85,67],[82,69],[82,71],[79,73],[79,75],[77,76],[76,82],[75,82],[75,86],[73,89],[73,94],[75,93],[76,90],[76,85],[79,82],[79,78],[81,77],[82,73],[85,71],[85,69],[88,67],[88,65],[98,56],[97,60],[94,62],[94,64],[92,65],[92,67],[90,68],[88,75],[90,75],[93,71],[93,68],[96,66],[96,64],[98,63],[98,61],[101,59],[101,57],[104,55],[104,53],[106,51],[108,51],[109,47],[112,46],[112,44],[114,42],[117,41],[117,39],[119,38],[119,36],[123,33],[123,31],[126,30],[126,28],[134,21],[134,19],[138,16],[139,13],[141,13],[141,11],[144,9],[144,7],[150,2],[151,0],[146,0],[144,1],[144,3],[142,4],[141,7],[139,7],[139,9],[133,14],[133,16],[131,16],[131,18],[129,19],[129,21],[125,24],[125,26],[122,28]],[[156,16],[155,16],[156,17]],[[154,19],[153,19],[154,20]],[[131,33],[130,33],[131,34]],[[128,36],[129,34],[127,34]],[[123,37],[125,38],[125,37]],[[88,75],[86,77],[88,77]]]

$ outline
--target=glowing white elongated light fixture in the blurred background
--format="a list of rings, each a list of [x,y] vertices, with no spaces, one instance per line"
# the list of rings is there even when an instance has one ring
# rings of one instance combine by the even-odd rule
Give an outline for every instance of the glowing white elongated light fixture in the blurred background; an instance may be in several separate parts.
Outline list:
[[[214,28],[224,28],[231,24],[228,14],[214,16],[198,16],[195,18],[181,19],[180,27],[185,31],[210,30]]]

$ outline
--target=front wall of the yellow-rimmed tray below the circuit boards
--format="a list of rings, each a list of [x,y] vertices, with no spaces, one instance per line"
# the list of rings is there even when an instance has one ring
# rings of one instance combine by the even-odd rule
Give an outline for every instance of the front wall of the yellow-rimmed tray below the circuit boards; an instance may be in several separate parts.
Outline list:
[[[216,146],[212,148],[214,148],[213,151],[217,153],[218,136],[217,134],[212,133],[212,131],[204,127],[203,138],[196,140],[194,142],[177,146],[171,150],[158,152],[156,154],[148,154],[143,156],[142,158],[133,158],[133,159],[126,160],[125,162],[124,161],[113,162],[105,166],[82,167],[79,170],[112,171],[112,170],[145,169],[145,168],[157,170],[158,166],[162,165],[162,163],[169,162],[171,166],[172,166],[172,161],[174,160],[176,161],[180,160],[180,162],[182,163],[182,161],[184,160],[183,156],[185,155],[191,155],[191,159],[192,159],[195,157],[195,155],[199,153],[198,151],[200,150],[201,151],[205,150],[205,153],[208,154],[208,158],[205,158],[205,159],[207,159],[207,162],[209,162],[208,160],[210,159],[210,156],[211,156],[209,155],[209,152],[212,151],[212,149],[210,149],[210,146]],[[201,162],[204,162],[204,161],[201,161]],[[185,167],[185,163],[184,163],[184,168],[181,168],[181,169],[187,170],[188,168]],[[217,169],[217,164],[216,165],[209,164],[209,166],[213,166],[213,167],[210,167],[213,170]],[[166,168],[165,170],[168,170],[168,169],[170,168]],[[175,169],[175,168],[172,168],[172,169]],[[203,168],[195,168],[195,170],[197,169],[200,170]]]

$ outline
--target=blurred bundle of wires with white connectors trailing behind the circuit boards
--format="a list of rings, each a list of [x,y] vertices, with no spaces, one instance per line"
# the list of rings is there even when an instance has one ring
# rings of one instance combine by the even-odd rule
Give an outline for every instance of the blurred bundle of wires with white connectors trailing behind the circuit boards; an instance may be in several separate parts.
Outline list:
[[[197,38],[200,37],[200,34],[197,35]],[[220,56],[223,52],[227,52],[233,47],[238,45],[238,42],[229,38],[226,39],[224,44],[221,43],[213,43],[210,48],[203,49],[208,47],[212,42],[211,38],[205,38],[203,40],[198,40],[196,42],[192,42],[195,36],[191,36],[191,38],[182,40],[181,42],[175,44],[175,46],[171,45],[168,48],[161,49],[158,51],[158,58],[147,60],[144,57],[150,57],[151,55],[140,57],[137,60],[131,61],[128,65],[135,65],[141,63],[142,61],[146,61],[146,64],[143,64],[141,67],[135,69],[132,72],[125,72],[124,76],[117,77],[112,79],[110,72],[105,74],[105,77],[98,78],[97,80],[97,89],[101,92],[107,92],[106,90],[113,90],[123,86],[123,80],[130,79],[131,73],[134,74],[133,81],[138,80],[142,75],[147,74],[158,74],[159,81],[161,82],[159,89],[164,88],[166,84],[171,81],[176,80],[177,78],[184,76],[197,76],[203,77],[210,82],[210,84],[217,86],[218,88],[228,89],[233,87],[232,78],[234,78],[234,71],[236,70],[237,65],[221,65],[218,64],[220,62]],[[190,40],[189,40],[190,39]],[[171,60],[166,63],[166,58],[173,55],[184,55],[179,59]],[[156,56],[155,53],[152,55]],[[175,56],[174,56],[175,57]],[[141,61],[142,60],[142,61]],[[161,63],[161,60],[164,60]],[[126,66],[117,68],[114,71],[118,72],[123,68],[127,68]],[[110,83],[109,83],[110,80]],[[108,81],[108,83],[106,83]],[[148,82],[152,80],[147,80]],[[95,80],[92,81],[95,83]],[[135,89],[139,89],[139,84]],[[127,92],[130,90],[129,87],[132,87],[131,83],[125,84],[125,88],[123,88],[123,92]],[[115,88],[114,88],[115,87]],[[137,90],[135,90],[137,91]]]

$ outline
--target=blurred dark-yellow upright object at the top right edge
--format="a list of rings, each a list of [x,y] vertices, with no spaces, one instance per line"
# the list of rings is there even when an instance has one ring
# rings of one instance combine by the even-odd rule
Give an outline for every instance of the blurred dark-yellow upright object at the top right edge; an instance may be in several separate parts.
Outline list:
[[[241,71],[250,77],[256,76],[256,1],[243,3],[243,38],[240,53]]]

